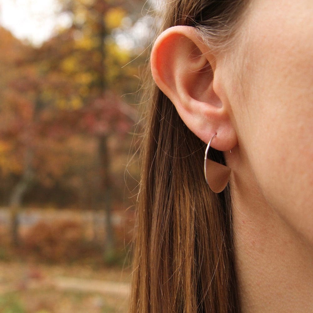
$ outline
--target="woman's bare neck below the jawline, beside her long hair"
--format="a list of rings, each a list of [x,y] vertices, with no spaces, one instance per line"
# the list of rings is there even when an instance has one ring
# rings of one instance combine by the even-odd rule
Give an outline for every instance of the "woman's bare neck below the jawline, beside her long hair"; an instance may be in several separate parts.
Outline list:
[[[266,203],[253,176],[241,174],[232,174],[241,311],[313,312],[312,244]]]

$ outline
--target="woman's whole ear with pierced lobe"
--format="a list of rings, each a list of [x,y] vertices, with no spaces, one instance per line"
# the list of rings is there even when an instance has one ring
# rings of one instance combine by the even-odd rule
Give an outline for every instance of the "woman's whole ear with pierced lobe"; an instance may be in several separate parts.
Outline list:
[[[217,134],[211,146],[226,151],[237,144],[237,136],[218,66],[219,59],[191,26],[164,31],[151,53],[153,78],[184,123],[204,142]]]

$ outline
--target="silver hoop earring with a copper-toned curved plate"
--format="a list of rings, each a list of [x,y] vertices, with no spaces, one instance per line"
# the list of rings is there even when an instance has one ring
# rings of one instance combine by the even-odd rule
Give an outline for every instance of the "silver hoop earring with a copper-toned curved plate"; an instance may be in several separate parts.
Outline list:
[[[215,193],[219,193],[225,189],[229,181],[231,168],[207,158],[211,142],[216,135],[211,138],[205,150],[204,177],[210,189]]]

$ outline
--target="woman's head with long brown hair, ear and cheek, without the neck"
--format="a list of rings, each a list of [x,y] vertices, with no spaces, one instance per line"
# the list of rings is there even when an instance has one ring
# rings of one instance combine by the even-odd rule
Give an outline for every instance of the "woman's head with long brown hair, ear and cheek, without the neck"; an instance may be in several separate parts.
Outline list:
[[[310,237],[309,223],[295,216],[300,208],[312,214],[313,175],[303,166],[312,159],[310,0],[173,0],[162,7],[132,312],[235,312],[230,192],[206,185],[205,143],[217,134],[211,157],[232,167],[234,198],[271,206]]]

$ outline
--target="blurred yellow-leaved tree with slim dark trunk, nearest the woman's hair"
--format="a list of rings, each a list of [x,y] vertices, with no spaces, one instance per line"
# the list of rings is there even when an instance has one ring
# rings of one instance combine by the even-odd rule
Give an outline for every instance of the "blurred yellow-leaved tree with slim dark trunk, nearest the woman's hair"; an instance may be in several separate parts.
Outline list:
[[[105,204],[106,212],[105,250],[108,254],[113,250],[114,245],[111,222],[112,176],[108,141],[112,133],[116,133],[116,126],[120,125],[118,120],[115,120],[117,115],[120,114],[120,121],[121,116],[124,116],[124,119],[131,118],[132,122],[136,121],[131,108],[126,108],[116,97],[115,101],[112,101],[114,98],[108,96],[110,93],[107,92],[110,90],[121,94],[123,91],[121,78],[125,79],[126,76],[133,74],[121,69],[122,65],[129,62],[133,56],[130,51],[121,49],[112,36],[113,29],[118,28],[126,18],[128,7],[129,3],[122,1],[64,2],[64,10],[73,16],[73,26],[67,32],[71,36],[67,39],[67,44],[72,44],[67,55],[62,58],[58,57],[62,60],[63,72],[73,77],[73,81],[78,85],[76,88],[79,92],[74,93],[77,97],[75,104],[79,103],[80,106],[87,107],[89,117],[93,115],[94,119],[99,112],[95,108],[99,106],[102,106],[102,109],[106,108],[105,114],[101,113],[101,118],[98,118],[97,127],[95,128],[93,124],[85,130],[92,132],[98,139],[99,172],[102,182],[101,200]],[[113,119],[112,115],[115,116]],[[113,125],[112,121],[115,121],[115,127],[103,126],[103,124]]]

